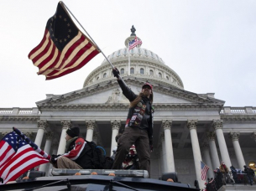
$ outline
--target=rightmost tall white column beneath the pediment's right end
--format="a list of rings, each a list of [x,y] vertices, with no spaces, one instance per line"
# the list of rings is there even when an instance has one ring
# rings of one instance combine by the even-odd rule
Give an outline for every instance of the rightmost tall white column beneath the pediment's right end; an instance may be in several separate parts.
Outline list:
[[[230,157],[227,151],[227,144],[224,138],[224,134],[222,131],[223,122],[222,120],[213,120],[213,128],[215,129],[217,135],[217,142],[219,143],[219,148],[222,155],[222,161],[227,165],[227,168],[231,167]]]

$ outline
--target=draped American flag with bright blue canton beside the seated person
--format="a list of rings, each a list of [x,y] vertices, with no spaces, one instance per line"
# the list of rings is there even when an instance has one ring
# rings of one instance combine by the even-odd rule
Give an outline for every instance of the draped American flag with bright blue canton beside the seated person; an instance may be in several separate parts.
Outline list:
[[[0,178],[13,181],[31,168],[49,163],[50,156],[13,127],[0,142]],[[0,185],[2,183],[0,182]]]

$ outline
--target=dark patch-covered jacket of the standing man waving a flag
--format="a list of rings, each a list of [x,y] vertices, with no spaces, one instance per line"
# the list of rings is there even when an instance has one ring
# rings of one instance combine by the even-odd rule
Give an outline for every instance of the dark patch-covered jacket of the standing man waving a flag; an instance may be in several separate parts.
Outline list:
[[[123,95],[125,95],[130,102],[134,101],[138,95],[135,95],[133,91],[128,88],[128,86],[124,85],[123,80],[118,80],[118,84],[123,90]],[[142,106],[146,106],[145,108],[143,107],[144,114],[142,118],[138,121],[131,120],[133,119],[133,116],[136,116],[135,117],[136,119],[139,118],[138,113],[139,113],[139,110],[141,110]],[[144,129],[148,131],[149,145],[153,144],[153,113],[154,113],[154,109],[153,109],[153,106],[151,105],[151,102],[149,101],[149,98],[142,97],[142,100],[138,102],[137,106],[129,108],[127,121],[126,121],[126,126],[138,127],[140,129]]]

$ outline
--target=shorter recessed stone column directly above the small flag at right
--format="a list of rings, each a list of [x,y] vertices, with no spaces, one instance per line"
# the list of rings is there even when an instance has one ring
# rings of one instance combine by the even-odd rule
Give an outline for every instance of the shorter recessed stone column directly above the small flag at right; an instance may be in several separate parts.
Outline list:
[[[219,156],[217,153],[217,147],[216,147],[216,143],[215,143],[216,133],[215,132],[206,132],[206,137],[208,138],[208,141],[209,141],[210,152],[212,155],[212,165],[213,165],[213,170],[214,170],[220,166],[220,159],[219,159]]]

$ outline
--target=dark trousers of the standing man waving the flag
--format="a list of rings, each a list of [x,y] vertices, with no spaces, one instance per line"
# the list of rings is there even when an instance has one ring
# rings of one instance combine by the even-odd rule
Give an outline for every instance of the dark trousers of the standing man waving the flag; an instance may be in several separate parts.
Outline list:
[[[112,169],[121,168],[133,144],[138,153],[139,169],[147,170],[150,175],[149,136],[147,131],[141,130],[138,127],[125,127],[123,135],[118,140],[118,150]]]

